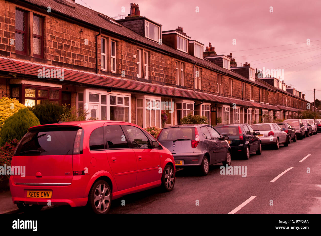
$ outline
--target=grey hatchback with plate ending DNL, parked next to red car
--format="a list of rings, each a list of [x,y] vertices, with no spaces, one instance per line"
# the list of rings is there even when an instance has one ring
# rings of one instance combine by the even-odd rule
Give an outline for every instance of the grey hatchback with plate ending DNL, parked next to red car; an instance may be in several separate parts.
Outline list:
[[[223,137],[213,126],[170,126],[163,128],[157,139],[173,154],[176,168],[194,166],[202,175],[207,175],[210,165],[220,162],[228,166],[231,164],[229,137]]]

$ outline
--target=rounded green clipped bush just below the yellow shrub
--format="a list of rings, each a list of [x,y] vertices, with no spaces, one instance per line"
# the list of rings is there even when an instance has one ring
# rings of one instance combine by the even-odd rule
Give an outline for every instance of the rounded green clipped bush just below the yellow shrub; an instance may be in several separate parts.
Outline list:
[[[0,146],[13,139],[20,140],[28,128],[40,125],[38,118],[28,109],[22,108],[4,121],[1,129]]]

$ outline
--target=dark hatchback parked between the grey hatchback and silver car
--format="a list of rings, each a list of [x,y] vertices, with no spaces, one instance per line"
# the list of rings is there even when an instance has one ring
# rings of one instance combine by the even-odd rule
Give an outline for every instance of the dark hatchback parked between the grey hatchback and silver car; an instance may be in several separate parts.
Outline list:
[[[228,136],[228,142],[232,149],[232,155],[243,155],[245,159],[250,158],[251,152],[256,152],[257,155],[262,153],[262,145],[259,137],[259,132],[254,130],[248,124],[228,124],[217,125],[215,128],[223,136]]]

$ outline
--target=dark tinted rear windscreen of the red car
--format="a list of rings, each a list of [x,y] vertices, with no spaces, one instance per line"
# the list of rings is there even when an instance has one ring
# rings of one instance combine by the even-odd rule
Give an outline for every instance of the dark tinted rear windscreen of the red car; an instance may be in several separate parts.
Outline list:
[[[28,132],[14,156],[72,155],[77,130],[51,128]]]

